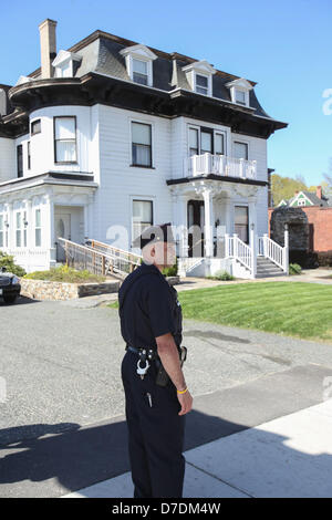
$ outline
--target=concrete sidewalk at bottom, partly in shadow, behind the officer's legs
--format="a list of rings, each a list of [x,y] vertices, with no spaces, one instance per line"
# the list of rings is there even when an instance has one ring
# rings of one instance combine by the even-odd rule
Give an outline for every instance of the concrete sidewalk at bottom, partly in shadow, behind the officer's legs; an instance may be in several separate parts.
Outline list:
[[[184,498],[332,497],[332,399],[185,451]],[[132,498],[131,474],[62,498]]]

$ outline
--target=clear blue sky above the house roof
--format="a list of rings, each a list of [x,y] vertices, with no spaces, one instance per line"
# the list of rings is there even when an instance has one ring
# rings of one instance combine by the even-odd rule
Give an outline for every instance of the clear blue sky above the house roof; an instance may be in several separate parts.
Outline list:
[[[40,65],[38,25],[58,21],[58,50],[96,29],[179,52],[256,81],[272,117],[289,123],[268,142],[276,173],[323,180],[332,157],[331,0],[0,1],[0,83],[14,84]],[[332,108],[332,102],[329,105]]]

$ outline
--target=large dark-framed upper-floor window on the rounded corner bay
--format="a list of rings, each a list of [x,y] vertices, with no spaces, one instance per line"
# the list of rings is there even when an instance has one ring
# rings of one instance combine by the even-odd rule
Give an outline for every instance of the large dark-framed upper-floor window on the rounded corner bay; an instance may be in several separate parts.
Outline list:
[[[55,163],[76,163],[76,117],[54,117]]]

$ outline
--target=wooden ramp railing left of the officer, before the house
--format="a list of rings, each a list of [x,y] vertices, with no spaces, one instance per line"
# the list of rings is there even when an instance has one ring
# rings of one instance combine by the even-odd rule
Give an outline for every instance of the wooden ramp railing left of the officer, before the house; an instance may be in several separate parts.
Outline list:
[[[94,274],[110,274],[123,279],[141,263],[142,257],[138,254],[112,248],[96,240],[87,240],[83,246],[58,238],[58,243],[63,248],[69,266],[77,270],[86,269]]]

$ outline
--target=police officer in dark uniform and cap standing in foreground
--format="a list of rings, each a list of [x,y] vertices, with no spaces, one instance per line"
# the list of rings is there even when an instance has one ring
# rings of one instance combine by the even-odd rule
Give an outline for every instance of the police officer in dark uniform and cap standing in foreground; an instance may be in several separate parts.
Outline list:
[[[145,229],[133,245],[141,247],[143,263],[122,283],[118,303],[134,498],[180,498],[185,415],[193,397],[181,371],[177,291],[162,274],[175,262],[170,223]]]

